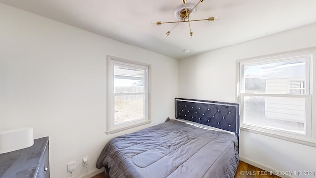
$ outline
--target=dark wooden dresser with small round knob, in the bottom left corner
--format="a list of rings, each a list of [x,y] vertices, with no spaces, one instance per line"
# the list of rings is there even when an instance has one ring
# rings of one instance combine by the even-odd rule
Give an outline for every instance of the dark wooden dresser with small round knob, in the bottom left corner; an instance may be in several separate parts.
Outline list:
[[[0,154],[0,178],[49,178],[48,137],[31,147]]]

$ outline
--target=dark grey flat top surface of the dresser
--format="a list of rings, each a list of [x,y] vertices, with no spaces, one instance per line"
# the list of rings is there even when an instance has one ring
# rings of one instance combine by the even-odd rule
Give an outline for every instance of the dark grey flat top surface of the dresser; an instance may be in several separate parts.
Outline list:
[[[35,139],[31,147],[0,154],[0,178],[29,178],[28,175],[35,175],[47,145],[48,137],[43,137]]]

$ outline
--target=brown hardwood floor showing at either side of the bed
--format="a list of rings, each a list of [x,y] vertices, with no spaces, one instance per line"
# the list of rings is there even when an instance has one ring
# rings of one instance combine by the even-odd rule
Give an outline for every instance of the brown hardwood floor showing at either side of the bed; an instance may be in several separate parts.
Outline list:
[[[109,178],[105,173],[100,173],[92,178]],[[275,175],[270,175],[270,172],[247,164],[243,161],[239,162],[235,178],[280,178]]]

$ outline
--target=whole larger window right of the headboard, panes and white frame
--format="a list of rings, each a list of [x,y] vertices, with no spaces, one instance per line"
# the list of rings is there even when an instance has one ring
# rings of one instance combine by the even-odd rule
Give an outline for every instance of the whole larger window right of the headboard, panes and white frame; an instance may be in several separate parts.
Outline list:
[[[242,128],[316,146],[313,63],[315,50],[238,61]]]

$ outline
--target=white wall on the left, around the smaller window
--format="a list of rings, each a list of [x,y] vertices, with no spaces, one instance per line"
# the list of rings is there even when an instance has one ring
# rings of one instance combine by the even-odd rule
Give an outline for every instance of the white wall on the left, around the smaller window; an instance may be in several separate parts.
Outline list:
[[[152,123],[106,135],[106,56],[151,64]],[[0,3],[0,131],[49,136],[51,178],[90,176],[112,137],[174,115],[178,61]]]

